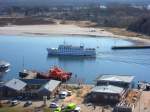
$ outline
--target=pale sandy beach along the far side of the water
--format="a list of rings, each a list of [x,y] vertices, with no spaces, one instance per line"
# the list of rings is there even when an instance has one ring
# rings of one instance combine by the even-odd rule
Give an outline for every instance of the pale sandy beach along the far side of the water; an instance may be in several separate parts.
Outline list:
[[[11,25],[0,27],[0,35],[81,35],[93,37],[114,37],[133,41],[136,44],[150,44],[149,39],[115,35],[101,28],[79,27],[75,24]]]

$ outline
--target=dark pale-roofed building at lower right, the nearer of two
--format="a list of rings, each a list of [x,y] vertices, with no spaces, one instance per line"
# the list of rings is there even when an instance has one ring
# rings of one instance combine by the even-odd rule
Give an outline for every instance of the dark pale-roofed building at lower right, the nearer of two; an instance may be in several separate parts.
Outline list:
[[[91,90],[90,101],[116,104],[125,93],[125,89],[114,85],[95,86]]]

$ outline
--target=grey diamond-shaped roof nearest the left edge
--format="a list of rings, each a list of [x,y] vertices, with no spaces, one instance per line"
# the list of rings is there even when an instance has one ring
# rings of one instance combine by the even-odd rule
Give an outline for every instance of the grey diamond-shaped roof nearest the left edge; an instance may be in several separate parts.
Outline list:
[[[5,86],[16,91],[22,90],[27,84],[19,79],[12,79],[5,83]]]

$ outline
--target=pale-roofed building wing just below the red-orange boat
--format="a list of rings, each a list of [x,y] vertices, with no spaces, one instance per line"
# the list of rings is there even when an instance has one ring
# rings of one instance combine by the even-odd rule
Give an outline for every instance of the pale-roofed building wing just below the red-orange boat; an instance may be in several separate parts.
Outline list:
[[[47,98],[52,97],[53,95],[55,95],[60,84],[61,84],[61,81],[50,80],[48,83],[46,83],[44,86],[42,86],[38,90],[39,97],[42,97],[42,98],[43,96],[47,96]]]

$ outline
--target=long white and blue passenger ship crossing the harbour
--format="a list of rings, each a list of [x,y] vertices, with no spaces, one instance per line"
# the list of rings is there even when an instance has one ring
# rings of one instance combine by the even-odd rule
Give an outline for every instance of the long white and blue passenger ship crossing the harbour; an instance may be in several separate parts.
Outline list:
[[[48,55],[60,56],[96,56],[95,48],[84,48],[84,46],[59,45],[58,48],[47,48]]]

